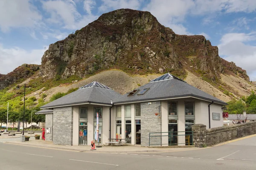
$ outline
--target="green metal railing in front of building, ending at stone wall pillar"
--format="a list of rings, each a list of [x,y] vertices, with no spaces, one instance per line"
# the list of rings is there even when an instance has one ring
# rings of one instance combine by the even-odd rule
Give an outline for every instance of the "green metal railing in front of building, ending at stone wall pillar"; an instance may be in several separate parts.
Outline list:
[[[193,145],[193,131],[149,133],[148,146],[176,146],[178,144]]]

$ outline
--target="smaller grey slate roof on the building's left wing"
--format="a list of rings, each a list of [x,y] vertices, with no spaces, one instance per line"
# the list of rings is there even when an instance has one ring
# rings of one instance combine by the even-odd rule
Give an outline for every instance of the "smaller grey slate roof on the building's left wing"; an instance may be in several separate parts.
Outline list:
[[[70,94],[67,94],[66,96],[63,96],[59,99],[54,100],[53,102],[50,102],[42,106],[41,109],[55,108],[65,105],[76,105],[87,102],[111,105],[111,100],[121,96],[121,94],[113,91],[111,88],[108,88],[105,85],[104,87],[107,88],[98,87],[98,85],[100,84],[99,82],[93,82],[94,85],[90,84],[88,84],[88,87],[83,86],[82,88],[79,88],[77,91],[74,91]]]

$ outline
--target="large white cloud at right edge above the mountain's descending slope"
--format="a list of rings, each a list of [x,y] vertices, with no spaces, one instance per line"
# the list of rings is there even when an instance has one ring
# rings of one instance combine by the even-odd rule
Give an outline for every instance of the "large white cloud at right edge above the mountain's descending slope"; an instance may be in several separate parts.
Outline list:
[[[251,80],[256,80],[256,46],[245,42],[256,40],[256,33],[229,33],[221,38],[218,45],[220,56],[227,61],[235,62],[237,66],[245,69]]]

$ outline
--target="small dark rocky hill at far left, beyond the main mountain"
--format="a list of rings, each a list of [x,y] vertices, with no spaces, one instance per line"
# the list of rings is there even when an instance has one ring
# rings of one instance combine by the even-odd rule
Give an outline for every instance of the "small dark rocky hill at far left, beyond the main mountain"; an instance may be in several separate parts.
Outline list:
[[[23,64],[14,71],[3,75],[0,75],[0,90],[8,87],[9,85],[17,82],[20,79],[26,79],[30,77],[35,71],[39,70],[39,65],[35,64]]]

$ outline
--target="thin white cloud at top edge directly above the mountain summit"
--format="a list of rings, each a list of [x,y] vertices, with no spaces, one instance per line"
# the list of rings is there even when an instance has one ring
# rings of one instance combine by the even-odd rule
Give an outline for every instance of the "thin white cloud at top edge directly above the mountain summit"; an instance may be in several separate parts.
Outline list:
[[[102,0],[99,11],[116,10],[120,8],[139,9],[140,0]]]

